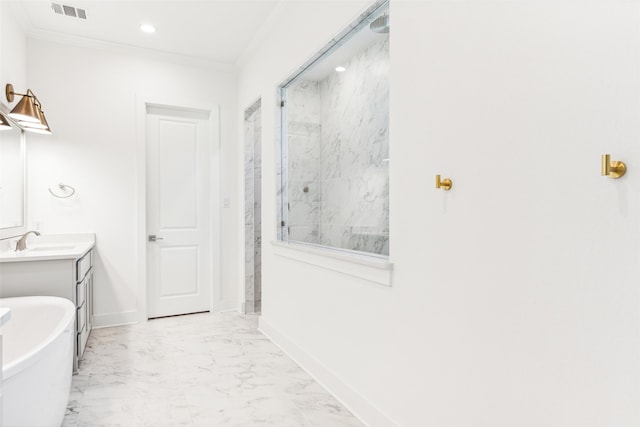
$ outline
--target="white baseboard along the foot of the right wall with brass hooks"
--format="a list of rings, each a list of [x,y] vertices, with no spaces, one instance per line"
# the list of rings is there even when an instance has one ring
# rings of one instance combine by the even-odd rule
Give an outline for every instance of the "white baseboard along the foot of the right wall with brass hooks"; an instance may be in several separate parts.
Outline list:
[[[313,377],[322,387],[331,393],[351,413],[368,427],[396,427],[394,423],[378,408],[362,395],[345,384],[333,372],[309,353],[298,347],[291,339],[273,327],[264,315],[259,319],[258,330],[269,338],[275,345],[304,371]]]

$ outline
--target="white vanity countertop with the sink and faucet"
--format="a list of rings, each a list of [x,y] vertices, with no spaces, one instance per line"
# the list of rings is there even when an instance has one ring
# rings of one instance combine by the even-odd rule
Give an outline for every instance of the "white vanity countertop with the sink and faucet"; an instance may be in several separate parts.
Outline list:
[[[93,233],[83,234],[42,234],[29,235],[27,249],[16,252],[5,249],[0,252],[0,263],[47,261],[56,259],[77,259],[89,252],[95,245]]]

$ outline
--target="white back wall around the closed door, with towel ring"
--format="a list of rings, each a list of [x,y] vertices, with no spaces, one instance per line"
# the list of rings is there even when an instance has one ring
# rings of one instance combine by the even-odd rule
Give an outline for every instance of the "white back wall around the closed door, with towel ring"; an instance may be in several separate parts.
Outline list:
[[[30,87],[53,131],[28,137],[29,222],[41,221],[45,233],[95,232],[96,323],[135,321],[136,245],[145,234],[137,229],[143,197],[136,189],[138,103],[175,99],[186,107],[220,105],[222,193],[233,194],[235,176],[225,159],[236,155],[236,78],[226,71],[43,40],[29,40],[28,58]],[[77,197],[51,197],[47,189],[58,182],[74,186]],[[221,244],[233,251],[237,243],[228,230],[237,225],[235,205],[232,200],[232,208],[222,212]],[[237,306],[238,277],[226,267],[227,253],[222,251],[219,308]]]

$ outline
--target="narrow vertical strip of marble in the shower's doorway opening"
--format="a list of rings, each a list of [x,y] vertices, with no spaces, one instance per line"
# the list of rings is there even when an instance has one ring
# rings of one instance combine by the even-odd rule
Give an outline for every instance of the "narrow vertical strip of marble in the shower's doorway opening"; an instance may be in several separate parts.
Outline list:
[[[244,120],[244,236],[245,311],[260,311],[262,301],[262,176],[260,101],[245,111]]]

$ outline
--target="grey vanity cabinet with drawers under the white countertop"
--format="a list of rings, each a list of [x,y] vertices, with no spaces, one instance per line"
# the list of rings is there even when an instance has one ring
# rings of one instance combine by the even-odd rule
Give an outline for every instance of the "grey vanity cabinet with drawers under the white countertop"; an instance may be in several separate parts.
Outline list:
[[[68,258],[32,259],[0,264],[0,298],[47,295],[76,306],[73,372],[78,371],[93,319],[93,247]]]

